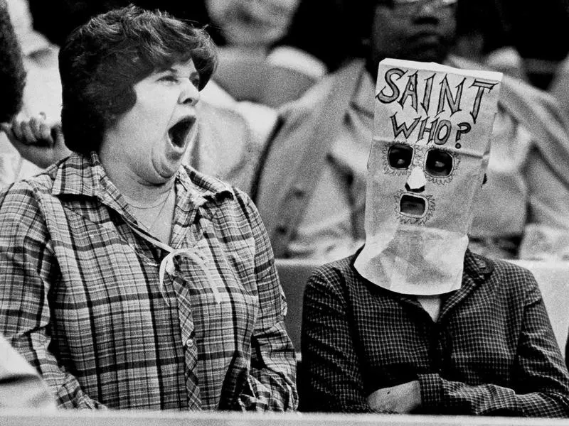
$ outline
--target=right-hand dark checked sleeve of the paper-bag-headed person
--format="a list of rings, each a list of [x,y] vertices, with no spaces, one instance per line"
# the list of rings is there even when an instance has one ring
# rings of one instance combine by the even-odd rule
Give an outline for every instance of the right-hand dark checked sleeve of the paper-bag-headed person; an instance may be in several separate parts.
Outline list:
[[[569,373],[532,278],[523,307],[511,388],[450,381],[437,373],[419,376],[422,407],[437,414],[569,416]]]

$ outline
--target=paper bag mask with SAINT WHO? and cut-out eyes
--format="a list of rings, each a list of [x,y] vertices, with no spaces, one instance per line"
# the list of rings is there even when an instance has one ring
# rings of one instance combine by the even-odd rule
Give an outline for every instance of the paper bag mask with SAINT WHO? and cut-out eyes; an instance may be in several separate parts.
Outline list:
[[[364,278],[413,295],[460,287],[500,82],[499,72],[381,61],[355,263]]]

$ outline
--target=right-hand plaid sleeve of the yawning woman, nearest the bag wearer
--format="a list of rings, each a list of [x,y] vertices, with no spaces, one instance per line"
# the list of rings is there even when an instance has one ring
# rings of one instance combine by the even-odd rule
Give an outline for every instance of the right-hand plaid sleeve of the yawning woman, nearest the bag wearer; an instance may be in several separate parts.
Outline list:
[[[298,405],[296,356],[285,329],[285,295],[259,213],[249,197],[241,197],[255,239],[259,315],[251,339],[250,374],[246,389],[239,395],[239,404],[242,410],[295,410]]]

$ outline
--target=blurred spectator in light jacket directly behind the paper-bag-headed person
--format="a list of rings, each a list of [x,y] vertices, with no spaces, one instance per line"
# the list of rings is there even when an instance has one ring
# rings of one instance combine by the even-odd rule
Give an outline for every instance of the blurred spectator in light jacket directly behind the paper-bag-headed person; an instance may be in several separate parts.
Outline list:
[[[297,13],[312,13],[304,21],[312,23],[317,40],[329,47],[329,61],[346,65],[285,109],[284,124],[252,195],[275,256],[332,259],[353,252],[363,241],[378,62],[399,58],[469,69],[479,65],[449,55],[456,28],[454,0],[310,3],[302,10],[299,6]],[[331,17],[321,19],[322,10]],[[338,31],[338,23],[344,31]],[[318,55],[316,48],[310,52]],[[344,94],[335,98],[340,89]],[[340,104],[344,111],[332,120],[332,110]],[[324,133],[328,143],[315,148],[318,135]],[[557,250],[533,253],[533,246],[547,247],[548,241],[528,244],[522,252],[520,247],[528,236],[535,241],[536,234],[569,230],[568,135],[551,97],[504,76],[488,183],[474,206],[473,251],[497,258],[557,256]],[[319,168],[310,174],[302,160],[313,151],[318,153],[312,163]]]

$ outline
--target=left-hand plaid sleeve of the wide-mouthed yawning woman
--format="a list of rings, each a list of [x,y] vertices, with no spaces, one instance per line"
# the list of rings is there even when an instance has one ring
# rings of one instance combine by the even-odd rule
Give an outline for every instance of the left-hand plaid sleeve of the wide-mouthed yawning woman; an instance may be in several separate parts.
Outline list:
[[[50,236],[25,182],[0,195],[0,332],[41,374],[60,408],[105,408],[50,351],[50,288],[60,276]]]

